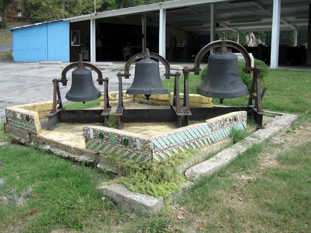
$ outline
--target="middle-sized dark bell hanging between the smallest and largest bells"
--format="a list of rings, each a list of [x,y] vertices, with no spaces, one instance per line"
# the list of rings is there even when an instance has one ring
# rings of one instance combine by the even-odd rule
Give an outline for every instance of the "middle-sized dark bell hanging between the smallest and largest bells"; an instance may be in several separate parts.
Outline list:
[[[144,59],[136,63],[134,80],[126,94],[142,94],[147,100],[152,94],[169,94],[161,82],[159,63],[150,59],[149,49]]]

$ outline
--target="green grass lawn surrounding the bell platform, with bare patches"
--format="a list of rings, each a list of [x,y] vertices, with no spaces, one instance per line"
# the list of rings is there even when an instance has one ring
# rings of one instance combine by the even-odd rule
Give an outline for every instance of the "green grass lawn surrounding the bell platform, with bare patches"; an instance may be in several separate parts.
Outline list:
[[[262,82],[262,87],[268,88],[263,109],[299,114],[284,136],[297,137],[301,127],[310,135],[310,74],[270,70]],[[200,76],[190,75],[190,93],[196,93],[200,82]],[[163,83],[173,91],[173,79]],[[228,106],[245,106],[244,102],[246,97],[224,101]],[[94,105],[99,101],[69,105],[67,109]],[[7,139],[1,131],[0,142]],[[254,145],[227,168],[201,180],[177,205],[167,205],[150,217],[134,214],[133,220],[110,199],[101,200],[94,190],[100,182],[111,180],[111,174],[35,146],[0,147],[0,178],[6,178],[0,187],[0,232],[51,232],[58,228],[67,232],[123,233],[311,232],[311,138],[305,139],[298,145],[285,146],[286,141]],[[265,167],[262,158],[267,153],[276,161]],[[239,180],[242,176],[244,182]],[[3,198],[12,189],[14,194],[30,192],[32,197],[16,206]]]

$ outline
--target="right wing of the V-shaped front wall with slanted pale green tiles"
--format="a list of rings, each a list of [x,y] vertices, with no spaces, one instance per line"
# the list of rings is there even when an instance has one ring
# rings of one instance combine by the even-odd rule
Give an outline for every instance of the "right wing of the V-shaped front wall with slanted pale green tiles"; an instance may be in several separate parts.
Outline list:
[[[151,138],[152,159],[160,161],[175,153],[208,147],[231,135],[233,127],[246,129],[247,113],[232,112],[207,120],[206,123],[179,128]]]

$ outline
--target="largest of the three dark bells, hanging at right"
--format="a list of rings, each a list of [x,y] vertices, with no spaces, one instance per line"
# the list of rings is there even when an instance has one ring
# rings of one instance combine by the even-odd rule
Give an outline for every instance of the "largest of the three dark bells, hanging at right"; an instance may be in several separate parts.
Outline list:
[[[215,52],[208,57],[207,73],[197,87],[197,94],[211,98],[229,99],[248,94],[239,75],[238,57],[231,49]]]

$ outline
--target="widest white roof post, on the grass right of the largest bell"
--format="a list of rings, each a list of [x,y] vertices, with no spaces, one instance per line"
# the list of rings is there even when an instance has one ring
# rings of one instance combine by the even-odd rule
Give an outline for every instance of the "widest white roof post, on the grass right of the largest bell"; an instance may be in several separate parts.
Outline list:
[[[280,15],[281,0],[273,0],[270,68],[277,68],[279,63]]]

